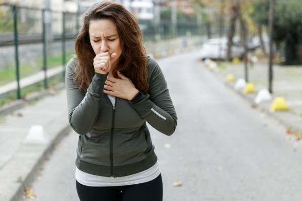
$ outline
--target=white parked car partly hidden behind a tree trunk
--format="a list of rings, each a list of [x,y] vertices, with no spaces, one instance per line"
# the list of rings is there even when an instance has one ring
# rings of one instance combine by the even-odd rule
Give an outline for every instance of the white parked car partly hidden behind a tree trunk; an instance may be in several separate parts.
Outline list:
[[[227,38],[212,38],[207,40],[201,49],[201,56],[203,60],[206,59],[222,59],[226,58],[227,53]],[[238,42],[233,42],[231,47],[231,59],[242,59],[244,55],[244,48]]]

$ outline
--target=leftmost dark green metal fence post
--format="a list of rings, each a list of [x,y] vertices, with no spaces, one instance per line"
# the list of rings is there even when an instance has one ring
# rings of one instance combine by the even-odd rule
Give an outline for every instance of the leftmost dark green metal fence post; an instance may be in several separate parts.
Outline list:
[[[21,99],[20,89],[20,72],[19,72],[19,50],[18,50],[18,9],[17,6],[13,6],[14,13],[14,35],[15,35],[15,61],[16,61],[16,79],[17,79],[17,98]]]

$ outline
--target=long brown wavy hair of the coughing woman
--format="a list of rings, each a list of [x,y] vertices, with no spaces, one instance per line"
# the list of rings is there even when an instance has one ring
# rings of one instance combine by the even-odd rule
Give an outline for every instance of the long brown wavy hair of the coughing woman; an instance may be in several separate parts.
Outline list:
[[[82,90],[87,90],[95,74],[93,59],[95,53],[89,39],[89,23],[91,20],[109,19],[117,26],[122,54],[113,69],[113,76],[118,78],[120,71],[128,77],[138,90],[146,93],[147,84],[147,56],[142,44],[142,32],[137,20],[122,5],[102,1],[94,4],[82,14],[83,27],[75,42],[77,56],[77,68],[75,81],[79,83]]]

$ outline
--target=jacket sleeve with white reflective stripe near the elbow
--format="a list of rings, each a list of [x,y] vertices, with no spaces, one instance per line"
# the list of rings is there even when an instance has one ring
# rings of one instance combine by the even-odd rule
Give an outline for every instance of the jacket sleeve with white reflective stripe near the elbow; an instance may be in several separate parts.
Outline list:
[[[171,100],[167,82],[158,63],[148,59],[149,89],[147,94],[138,94],[130,105],[148,124],[158,131],[172,135],[177,125],[177,115]]]

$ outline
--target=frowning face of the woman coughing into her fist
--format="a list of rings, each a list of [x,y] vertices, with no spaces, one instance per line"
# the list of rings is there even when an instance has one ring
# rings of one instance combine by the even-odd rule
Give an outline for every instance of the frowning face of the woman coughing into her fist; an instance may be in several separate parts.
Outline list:
[[[112,20],[91,20],[89,23],[89,38],[95,55],[106,52],[109,55],[116,53],[117,56],[112,59],[112,64],[121,56],[120,37]]]

